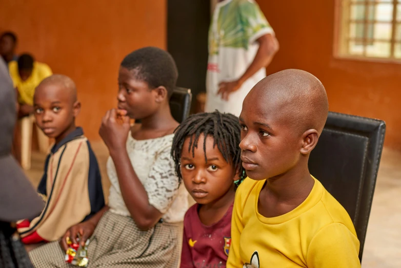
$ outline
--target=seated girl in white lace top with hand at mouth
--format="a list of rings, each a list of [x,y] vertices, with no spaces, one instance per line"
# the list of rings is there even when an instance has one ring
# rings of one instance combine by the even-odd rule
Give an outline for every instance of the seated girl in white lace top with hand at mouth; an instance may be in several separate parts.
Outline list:
[[[118,73],[118,110],[99,130],[110,152],[109,206],[72,226],[61,240],[88,246],[88,267],[177,267],[187,192],[170,155],[173,119],[169,98],[177,79],[171,55],[154,47],[126,56]],[[130,126],[130,119],[142,124]],[[69,267],[55,243],[30,253],[35,267]]]

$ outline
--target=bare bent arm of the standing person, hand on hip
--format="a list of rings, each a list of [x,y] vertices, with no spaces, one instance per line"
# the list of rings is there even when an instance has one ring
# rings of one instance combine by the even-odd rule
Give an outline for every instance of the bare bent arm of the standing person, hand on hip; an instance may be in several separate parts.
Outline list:
[[[229,94],[238,90],[242,84],[258,70],[267,67],[279,49],[276,37],[270,33],[260,36],[256,42],[259,44],[259,48],[251,65],[249,65],[244,74],[236,81],[222,82],[219,84],[217,94],[222,94],[224,100],[228,100]]]

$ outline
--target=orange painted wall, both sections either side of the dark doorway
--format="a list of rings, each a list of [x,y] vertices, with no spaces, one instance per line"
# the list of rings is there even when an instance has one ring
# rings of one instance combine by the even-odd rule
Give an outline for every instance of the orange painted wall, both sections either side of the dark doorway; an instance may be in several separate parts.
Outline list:
[[[325,85],[332,111],[383,119],[386,146],[401,149],[401,65],[335,59],[334,0],[257,0],[280,42],[268,73],[299,68]],[[78,124],[98,140],[105,111],[115,106],[119,62],[130,51],[166,48],[166,0],[2,0],[0,31],[19,37],[55,73],[76,82],[83,104]]]

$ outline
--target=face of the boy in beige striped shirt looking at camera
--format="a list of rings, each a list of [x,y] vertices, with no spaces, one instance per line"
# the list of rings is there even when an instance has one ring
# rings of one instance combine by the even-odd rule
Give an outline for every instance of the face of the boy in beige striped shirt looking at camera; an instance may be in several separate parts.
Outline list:
[[[36,124],[49,138],[58,142],[68,135],[68,129],[75,128],[74,120],[81,106],[61,85],[39,85],[33,102]]]

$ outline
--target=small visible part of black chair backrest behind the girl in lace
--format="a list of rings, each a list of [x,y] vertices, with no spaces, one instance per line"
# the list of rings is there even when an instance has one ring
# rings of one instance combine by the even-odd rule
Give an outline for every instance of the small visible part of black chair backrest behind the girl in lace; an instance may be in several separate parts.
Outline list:
[[[171,115],[181,123],[188,116],[191,110],[192,93],[190,89],[176,87],[170,98]]]

